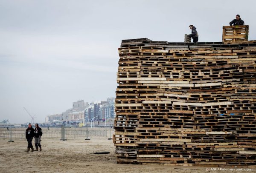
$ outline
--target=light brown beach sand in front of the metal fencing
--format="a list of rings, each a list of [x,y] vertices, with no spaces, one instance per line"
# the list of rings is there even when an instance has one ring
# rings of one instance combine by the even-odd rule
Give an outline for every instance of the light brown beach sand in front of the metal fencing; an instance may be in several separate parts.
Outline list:
[[[33,141],[34,142],[34,141]],[[33,143],[34,144],[34,143]],[[0,140],[0,172],[29,173],[206,173],[206,172],[253,172],[253,171],[207,171],[207,167],[184,167],[165,165],[116,164],[112,140],[94,137],[60,141],[42,138],[42,151],[26,153],[27,141]],[[109,154],[93,154],[110,152]],[[208,169],[210,169],[208,167]],[[254,171],[255,172],[255,171]]]

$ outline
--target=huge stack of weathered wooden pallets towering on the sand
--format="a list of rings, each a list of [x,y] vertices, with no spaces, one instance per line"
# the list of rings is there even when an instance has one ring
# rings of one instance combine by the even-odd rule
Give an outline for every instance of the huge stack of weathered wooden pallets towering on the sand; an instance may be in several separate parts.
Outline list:
[[[122,40],[117,163],[256,165],[256,40]]]

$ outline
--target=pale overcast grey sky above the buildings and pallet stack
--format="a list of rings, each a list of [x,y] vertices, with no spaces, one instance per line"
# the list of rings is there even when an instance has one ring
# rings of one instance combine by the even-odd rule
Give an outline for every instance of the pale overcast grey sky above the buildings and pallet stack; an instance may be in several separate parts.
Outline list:
[[[115,95],[122,39],[221,41],[240,14],[256,40],[253,0],[0,0],[0,121],[29,122]]]

